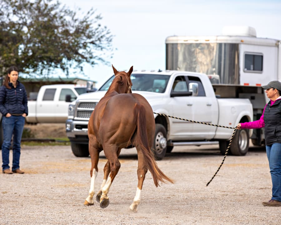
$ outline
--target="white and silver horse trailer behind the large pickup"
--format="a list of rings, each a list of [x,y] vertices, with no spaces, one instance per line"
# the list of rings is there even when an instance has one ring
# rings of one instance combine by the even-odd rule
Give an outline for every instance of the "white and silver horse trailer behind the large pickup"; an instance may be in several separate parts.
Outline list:
[[[219,36],[170,36],[165,43],[167,70],[206,73],[217,96],[249,98],[254,120],[269,101],[260,86],[281,81],[280,40],[256,37],[253,27],[224,27]],[[264,130],[254,129],[251,139],[263,144]]]

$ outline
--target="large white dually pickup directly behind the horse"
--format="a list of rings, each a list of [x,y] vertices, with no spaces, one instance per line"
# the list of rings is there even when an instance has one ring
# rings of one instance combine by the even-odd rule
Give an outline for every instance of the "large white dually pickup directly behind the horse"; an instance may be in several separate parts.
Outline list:
[[[108,90],[112,76],[98,91],[82,94],[69,105],[66,132],[74,155],[86,157],[87,125],[96,104]],[[219,98],[202,73],[183,71],[133,72],[132,92],[144,96],[153,112],[189,120],[235,127],[239,122],[253,120],[249,99]],[[192,90],[192,91],[191,91]],[[163,158],[174,146],[219,144],[222,154],[228,146],[233,129],[218,128],[184,120],[155,116],[154,152]],[[237,130],[230,151],[245,155],[249,148],[249,130]]]

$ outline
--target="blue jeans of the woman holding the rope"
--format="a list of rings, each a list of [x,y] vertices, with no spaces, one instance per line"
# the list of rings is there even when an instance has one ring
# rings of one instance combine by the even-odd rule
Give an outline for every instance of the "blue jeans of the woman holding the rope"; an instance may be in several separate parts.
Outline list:
[[[272,180],[272,200],[281,202],[281,143],[266,146]]]

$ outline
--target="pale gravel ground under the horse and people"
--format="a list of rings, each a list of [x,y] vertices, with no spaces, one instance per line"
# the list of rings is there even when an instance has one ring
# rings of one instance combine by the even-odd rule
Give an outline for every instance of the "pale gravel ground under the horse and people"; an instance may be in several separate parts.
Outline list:
[[[109,206],[102,209],[97,202],[83,205],[90,187],[90,158],[76,158],[70,146],[26,146],[21,155],[26,173],[0,174],[0,224],[280,224],[281,207],[261,204],[271,197],[264,149],[227,156],[206,187],[222,159],[217,146],[175,147],[157,162],[175,184],[156,188],[148,172],[135,213],[129,210],[137,186],[134,149],[122,150]],[[105,161],[101,153],[96,193]]]

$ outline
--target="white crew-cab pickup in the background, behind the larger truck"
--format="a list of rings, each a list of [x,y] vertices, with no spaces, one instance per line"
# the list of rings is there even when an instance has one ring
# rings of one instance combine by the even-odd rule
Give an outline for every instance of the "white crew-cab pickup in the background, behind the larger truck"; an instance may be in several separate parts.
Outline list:
[[[76,84],[44,85],[40,88],[36,100],[28,100],[27,123],[65,123],[67,120],[66,95],[71,101],[86,93],[86,86]]]

